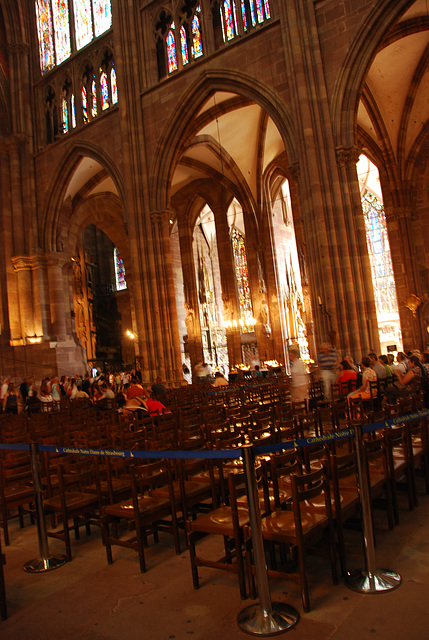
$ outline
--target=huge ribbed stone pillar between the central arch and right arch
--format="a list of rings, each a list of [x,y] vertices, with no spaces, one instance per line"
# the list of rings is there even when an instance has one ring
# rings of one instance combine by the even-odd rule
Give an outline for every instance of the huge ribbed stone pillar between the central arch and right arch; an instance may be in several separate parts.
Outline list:
[[[337,164],[314,2],[290,0],[280,3],[279,10],[285,24],[286,69],[297,132],[315,334],[319,345],[330,339],[342,353],[351,351],[361,357],[367,345],[379,347],[373,330],[375,306],[362,274],[367,251],[362,257],[355,194],[344,187],[350,169]]]

